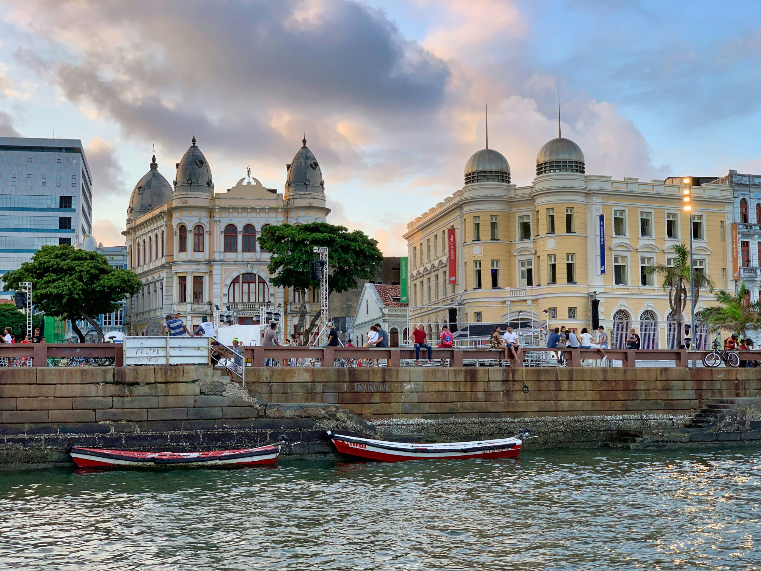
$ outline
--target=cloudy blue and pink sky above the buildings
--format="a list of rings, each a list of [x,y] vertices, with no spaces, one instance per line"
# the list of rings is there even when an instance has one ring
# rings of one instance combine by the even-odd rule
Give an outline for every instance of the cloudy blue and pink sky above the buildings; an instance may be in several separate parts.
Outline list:
[[[761,172],[761,2],[0,0],[0,136],[81,139],[93,234],[123,244],[148,171],[193,133],[217,192],[282,192],[301,147],[328,222],[406,254],[406,225],[485,144],[530,184],[562,134],[587,174]]]

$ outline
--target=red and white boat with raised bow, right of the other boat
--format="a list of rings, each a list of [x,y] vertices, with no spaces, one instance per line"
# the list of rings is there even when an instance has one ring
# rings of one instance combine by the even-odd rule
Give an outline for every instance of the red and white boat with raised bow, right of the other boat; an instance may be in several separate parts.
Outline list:
[[[529,435],[528,430],[524,429],[519,436],[509,439],[422,444],[364,439],[332,430],[327,433],[342,454],[384,462],[433,458],[515,458],[521,452],[522,439]]]

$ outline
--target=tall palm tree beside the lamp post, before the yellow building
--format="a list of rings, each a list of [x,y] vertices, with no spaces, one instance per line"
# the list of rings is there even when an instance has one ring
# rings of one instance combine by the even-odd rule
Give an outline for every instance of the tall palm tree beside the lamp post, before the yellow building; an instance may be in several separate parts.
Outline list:
[[[680,242],[673,247],[673,251],[676,254],[673,258],[673,265],[667,266],[663,263],[657,263],[654,266],[646,268],[645,272],[658,274],[662,278],[661,287],[665,292],[668,292],[668,304],[671,308],[671,315],[674,321],[677,322],[674,346],[678,349],[682,345],[681,336],[684,331],[682,311],[687,307],[687,296],[689,295],[689,249],[684,242]],[[703,272],[693,272],[693,279],[695,281],[695,299],[693,303],[697,305],[700,289],[708,289],[709,292],[713,292],[714,282]],[[694,330],[693,324],[693,339],[696,337]]]

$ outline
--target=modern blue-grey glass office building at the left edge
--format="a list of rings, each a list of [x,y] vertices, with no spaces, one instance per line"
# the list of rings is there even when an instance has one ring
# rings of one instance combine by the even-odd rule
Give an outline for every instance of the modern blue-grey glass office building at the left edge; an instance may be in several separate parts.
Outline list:
[[[0,273],[92,231],[92,177],[79,139],[0,137]]]

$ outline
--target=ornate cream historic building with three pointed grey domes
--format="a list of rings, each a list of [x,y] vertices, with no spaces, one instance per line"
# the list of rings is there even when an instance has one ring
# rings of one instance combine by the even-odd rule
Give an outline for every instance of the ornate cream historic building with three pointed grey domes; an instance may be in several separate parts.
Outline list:
[[[267,272],[269,254],[257,237],[267,225],[326,222],[325,182],[320,165],[302,141],[286,165],[285,190],[263,187],[249,175],[215,193],[212,169],[196,138],[177,163],[174,183],[150,170],[132,190],[127,209],[129,269],[144,284],[128,303],[126,327],[158,334],[164,315],[180,311],[188,327],[202,317],[233,314],[240,324],[258,323],[263,311],[281,311],[281,331],[298,320],[298,292],[275,288]],[[319,308],[309,294],[308,316]],[[215,325],[218,323],[215,323]]]

